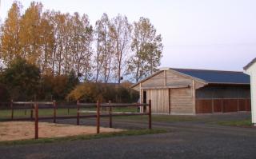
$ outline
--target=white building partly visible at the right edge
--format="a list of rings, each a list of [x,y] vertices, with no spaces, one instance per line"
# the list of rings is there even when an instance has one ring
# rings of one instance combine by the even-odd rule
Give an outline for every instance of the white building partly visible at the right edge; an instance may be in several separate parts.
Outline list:
[[[252,123],[256,126],[256,58],[243,68],[250,75],[250,97]]]

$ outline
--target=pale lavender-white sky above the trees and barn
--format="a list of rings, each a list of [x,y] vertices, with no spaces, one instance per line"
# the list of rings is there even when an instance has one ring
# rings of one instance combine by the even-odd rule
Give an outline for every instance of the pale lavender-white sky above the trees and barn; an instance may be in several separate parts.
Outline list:
[[[13,0],[0,0],[6,18]],[[30,0],[22,0],[23,10]],[[256,58],[255,0],[41,0],[44,9],[87,14],[92,25],[103,13],[130,22],[150,18],[162,35],[161,67],[242,70]]]

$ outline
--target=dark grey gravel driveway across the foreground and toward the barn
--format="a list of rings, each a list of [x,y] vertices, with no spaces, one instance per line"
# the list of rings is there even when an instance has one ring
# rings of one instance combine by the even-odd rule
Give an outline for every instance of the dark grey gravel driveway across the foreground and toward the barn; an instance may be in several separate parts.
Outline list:
[[[202,116],[199,121],[154,122],[154,128],[170,131],[154,135],[0,146],[0,158],[256,158],[256,129],[204,122],[243,117],[248,114]],[[115,127],[120,125],[146,128],[147,123],[114,121]]]

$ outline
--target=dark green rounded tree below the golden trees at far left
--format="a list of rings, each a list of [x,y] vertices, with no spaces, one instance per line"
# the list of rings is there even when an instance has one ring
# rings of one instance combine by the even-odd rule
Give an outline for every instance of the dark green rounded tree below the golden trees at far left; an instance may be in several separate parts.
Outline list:
[[[10,67],[2,72],[0,81],[6,85],[13,99],[31,100],[38,92],[40,77],[37,66],[22,58],[16,58]]]

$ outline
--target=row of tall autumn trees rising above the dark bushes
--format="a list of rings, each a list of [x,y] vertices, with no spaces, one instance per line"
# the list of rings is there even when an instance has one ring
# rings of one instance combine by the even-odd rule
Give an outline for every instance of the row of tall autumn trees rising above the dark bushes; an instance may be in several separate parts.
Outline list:
[[[23,12],[14,2],[0,31],[2,70],[17,58],[38,66],[42,75],[74,72],[84,81],[139,81],[157,70],[162,37],[149,18],[130,23],[126,16],[107,14],[90,24],[86,14],[42,11],[31,2]]]

